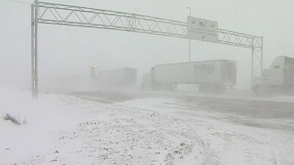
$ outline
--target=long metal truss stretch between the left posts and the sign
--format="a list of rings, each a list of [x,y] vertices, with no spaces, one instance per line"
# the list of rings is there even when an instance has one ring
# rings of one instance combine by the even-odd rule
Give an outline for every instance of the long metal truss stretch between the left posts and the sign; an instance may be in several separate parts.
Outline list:
[[[145,15],[39,2],[38,23],[187,37],[187,23]]]

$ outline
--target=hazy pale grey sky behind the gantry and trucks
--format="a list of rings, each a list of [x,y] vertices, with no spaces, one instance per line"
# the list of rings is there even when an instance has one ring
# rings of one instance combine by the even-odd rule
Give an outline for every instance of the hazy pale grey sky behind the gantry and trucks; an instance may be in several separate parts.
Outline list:
[[[32,3],[32,0],[22,0]],[[40,0],[41,1],[41,0]],[[294,0],[44,0],[187,21],[217,21],[219,28],[264,37],[264,68],[279,55],[294,57]],[[31,9],[0,0],[0,83],[30,87]],[[97,70],[187,62],[189,40],[134,32],[39,24],[39,84],[60,75],[89,76]],[[191,41],[191,61],[238,61],[238,88],[249,88],[251,49]]]

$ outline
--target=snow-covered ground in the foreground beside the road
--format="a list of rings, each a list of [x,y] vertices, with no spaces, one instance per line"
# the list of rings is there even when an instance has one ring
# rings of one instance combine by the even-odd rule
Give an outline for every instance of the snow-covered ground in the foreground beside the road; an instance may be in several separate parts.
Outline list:
[[[115,96],[114,96],[115,97]],[[0,89],[0,165],[294,165],[293,118],[252,118],[171,97],[120,101]]]

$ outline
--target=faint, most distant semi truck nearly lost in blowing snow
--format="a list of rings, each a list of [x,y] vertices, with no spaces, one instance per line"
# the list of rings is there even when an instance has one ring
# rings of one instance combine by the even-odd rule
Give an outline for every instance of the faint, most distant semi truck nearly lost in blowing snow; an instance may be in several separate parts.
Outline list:
[[[121,68],[114,70],[100,71],[97,75],[97,82],[103,86],[130,86],[137,83],[136,68]]]

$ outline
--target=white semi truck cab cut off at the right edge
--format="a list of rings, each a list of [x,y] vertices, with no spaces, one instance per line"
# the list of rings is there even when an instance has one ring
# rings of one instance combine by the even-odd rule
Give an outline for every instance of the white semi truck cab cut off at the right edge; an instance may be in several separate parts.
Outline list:
[[[252,80],[251,90],[256,95],[290,92],[294,96],[294,58],[276,57],[262,77]]]

